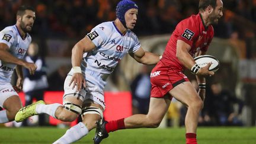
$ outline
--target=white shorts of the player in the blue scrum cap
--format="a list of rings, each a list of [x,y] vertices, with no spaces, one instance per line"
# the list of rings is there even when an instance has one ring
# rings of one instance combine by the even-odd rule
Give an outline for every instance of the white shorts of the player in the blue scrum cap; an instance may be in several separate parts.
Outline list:
[[[85,89],[81,89],[81,91],[76,91],[76,86],[75,88],[72,89],[73,84],[69,87],[69,82],[71,81],[71,78],[72,78],[72,75],[66,76],[66,79],[64,82],[63,100],[66,97],[78,97],[82,101],[91,99],[95,103],[100,104],[105,110],[103,89],[100,89],[99,87],[95,86],[91,82],[87,81],[87,87]]]

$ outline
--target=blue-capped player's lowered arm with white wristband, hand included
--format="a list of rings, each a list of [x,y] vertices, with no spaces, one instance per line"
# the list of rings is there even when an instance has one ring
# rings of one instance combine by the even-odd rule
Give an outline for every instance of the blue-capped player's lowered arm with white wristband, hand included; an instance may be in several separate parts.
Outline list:
[[[82,89],[82,85],[84,88],[86,87],[84,76],[82,75],[81,71],[81,61],[83,58],[83,54],[86,52],[90,52],[91,50],[95,49],[95,44],[85,36],[84,39],[78,41],[72,49],[72,68],[73,68],[73,76],[69,86],[73,83],[73,87],[77,85],[76,90],[80,91]]]

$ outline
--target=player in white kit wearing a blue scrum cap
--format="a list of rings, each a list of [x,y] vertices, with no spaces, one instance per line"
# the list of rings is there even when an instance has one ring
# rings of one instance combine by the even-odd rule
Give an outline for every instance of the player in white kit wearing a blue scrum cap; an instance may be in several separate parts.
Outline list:
[[[72,49],[73,68],[66,77],[63,105],[41,102],[28,105],[19,111],[16,121],[29,116],[47,113],[62,121],[73,121],[82,114],[82,122],[67,130],[55,143],[72,143],[94,129],[103,119],[104,86],[120,60],[129,53],[137,62],[156,64],[160,57],[145,52],[131,30],[137,21],[138,7],[130,0],[117,5],[115,21],[101,23],[78,41]]]

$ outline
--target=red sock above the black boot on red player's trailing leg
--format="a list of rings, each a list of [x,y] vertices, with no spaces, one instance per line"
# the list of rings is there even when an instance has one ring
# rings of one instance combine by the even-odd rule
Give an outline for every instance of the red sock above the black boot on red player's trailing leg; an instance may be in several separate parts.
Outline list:
[[[112,120],[105,124],[105,129],[107,133],[114,132],[116,130],[125,129],[124,118],[119,120]]]

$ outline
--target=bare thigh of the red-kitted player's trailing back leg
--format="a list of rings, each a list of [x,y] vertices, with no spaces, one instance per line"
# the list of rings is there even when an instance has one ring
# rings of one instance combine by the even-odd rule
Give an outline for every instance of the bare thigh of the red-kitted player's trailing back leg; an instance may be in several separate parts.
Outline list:
[[[155,120],[161,121],[164,118],[170,103],[171,103],[171,100],[169,100],[168,98],[151,97],[151,100],[149,102],[148,117],[154,121]]]

